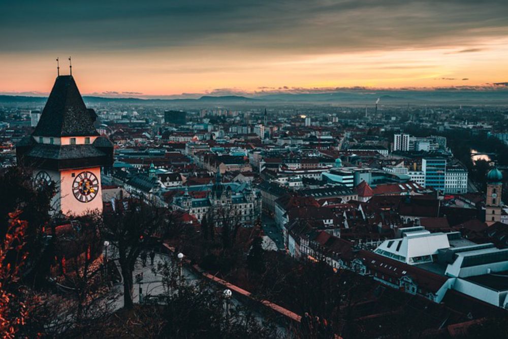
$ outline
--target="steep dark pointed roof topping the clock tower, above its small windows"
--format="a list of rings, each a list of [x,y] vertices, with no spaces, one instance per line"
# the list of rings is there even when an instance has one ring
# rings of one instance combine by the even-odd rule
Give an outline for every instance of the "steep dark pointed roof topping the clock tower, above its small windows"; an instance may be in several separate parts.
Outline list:
[[[56,78],[39,124],[32,135],[71,137],[99,135],[93,122],[96,114],[87,109],[72,75]]]

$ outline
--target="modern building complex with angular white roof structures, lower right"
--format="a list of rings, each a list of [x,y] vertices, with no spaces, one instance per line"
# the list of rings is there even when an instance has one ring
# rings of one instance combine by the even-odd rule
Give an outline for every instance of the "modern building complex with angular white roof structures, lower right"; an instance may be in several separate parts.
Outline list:
[[[399,238],[380,244],[374,251],[377,256],[370,255],[358,271],[435,302],[441,302],[448,290],[455,290],[503,309],[508,307],[508,249],[473,243],[460,232],[430,233],[423,227],[408,227],[398,233]],[[379,274],[381,266],[383,275]],[[394,280],[394,276],[399,278]],[[420,284],[429,279],[434,287]]]

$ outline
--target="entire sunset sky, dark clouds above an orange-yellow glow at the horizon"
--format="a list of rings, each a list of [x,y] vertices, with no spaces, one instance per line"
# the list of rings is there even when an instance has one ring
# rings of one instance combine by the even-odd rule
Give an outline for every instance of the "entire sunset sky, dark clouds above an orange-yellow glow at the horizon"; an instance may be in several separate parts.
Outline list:
[[[0,0],[0,91],[164,96],[508,81],[506,0]],[[287,88],[286,88],[287,87]]]

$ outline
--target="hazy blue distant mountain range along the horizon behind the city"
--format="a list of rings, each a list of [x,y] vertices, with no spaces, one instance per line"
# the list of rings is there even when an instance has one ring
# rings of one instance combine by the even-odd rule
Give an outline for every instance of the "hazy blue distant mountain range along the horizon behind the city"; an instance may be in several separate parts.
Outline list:
[[[508,90],[351,90],[336,91],[332,93],[305,93],[305,94],[267,94],[253,97],[244,96],[203,96],[198,99],[139,99],[139,98],[106,98],[84,96],[83,99],[89,104],[201,104],[201,103],[244,103],[261,104],[285,103],[285,104],[354,104],[373,105],[377,98],[379,104],[402,105],[402,104],[508,104]],[[27,103],[40,104],[46,102],[45,97],[6,96],[0,95],[0,104]]]

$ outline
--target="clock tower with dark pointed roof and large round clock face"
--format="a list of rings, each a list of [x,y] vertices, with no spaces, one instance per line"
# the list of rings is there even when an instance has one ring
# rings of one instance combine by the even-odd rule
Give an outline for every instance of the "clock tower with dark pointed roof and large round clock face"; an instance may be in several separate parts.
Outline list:
[[[56,183],[56,211],[102,211],[101,167],[112,166],[113,144],[93,126],[96,118],[72,75],[60,75],[34,132],[16,145],[18,164],[33,170],[36,184]]]

